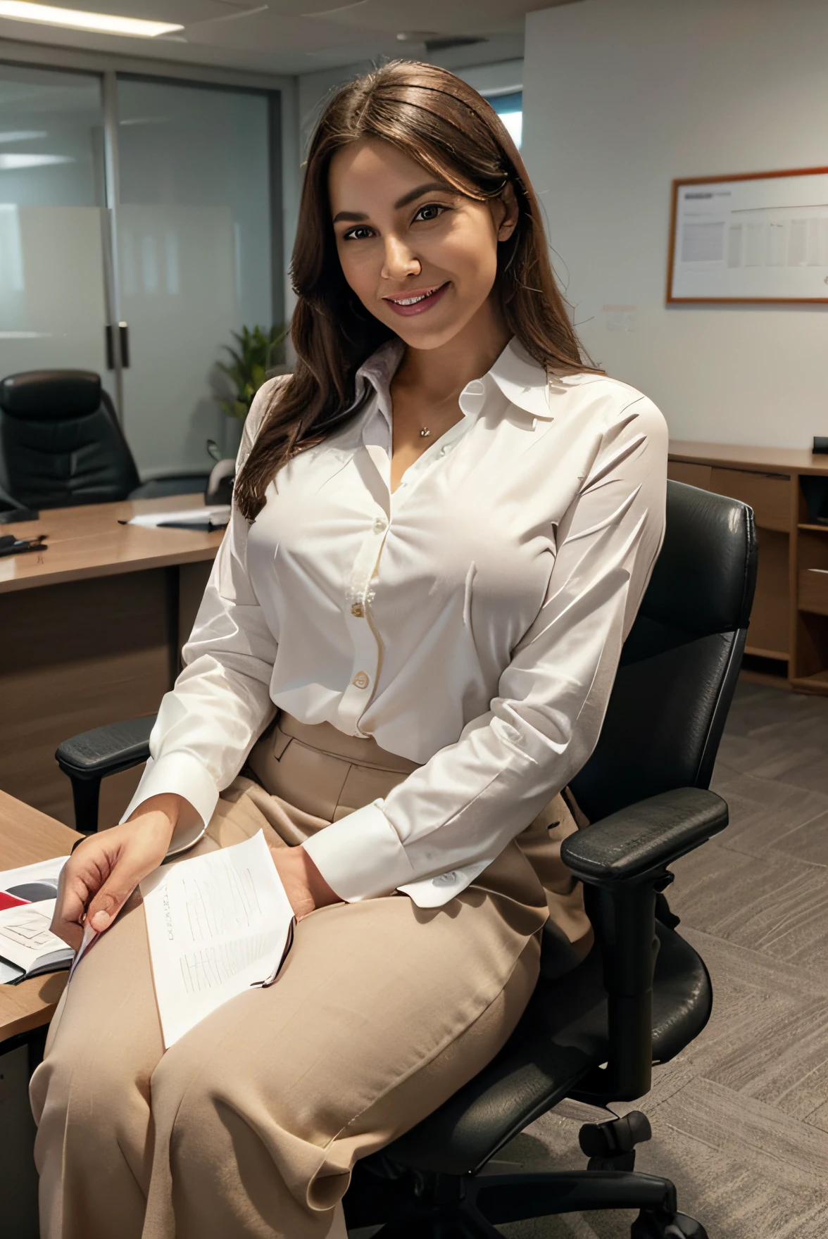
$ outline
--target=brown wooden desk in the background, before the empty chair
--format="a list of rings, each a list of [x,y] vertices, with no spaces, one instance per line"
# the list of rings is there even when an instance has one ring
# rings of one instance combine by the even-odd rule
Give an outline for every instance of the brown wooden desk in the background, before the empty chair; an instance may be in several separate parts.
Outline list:
[[[195,507],[172,496],[56,508],[0,525],[48,534],[48,550],[0,559],[0,788],[72,824],[62,740],[152,714],[178,670],[221,533],[120,525]],[[125,808],[140,771],[104,779],[102,821]]]

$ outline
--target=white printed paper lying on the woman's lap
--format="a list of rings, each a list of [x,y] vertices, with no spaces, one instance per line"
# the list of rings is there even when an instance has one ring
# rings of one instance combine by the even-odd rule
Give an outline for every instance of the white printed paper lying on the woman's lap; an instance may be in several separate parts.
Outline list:
[[[229,999],[274,980],[294,913],[262,831],[164,866],[140,891],[169,1049]]]

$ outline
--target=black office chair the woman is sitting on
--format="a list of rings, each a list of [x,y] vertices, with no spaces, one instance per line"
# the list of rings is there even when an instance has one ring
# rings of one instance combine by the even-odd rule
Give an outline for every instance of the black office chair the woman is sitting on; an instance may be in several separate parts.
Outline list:
[[[485,1175],[487,1162],[564,1098],[605,1108],[643,1097],[652,1063],[704,1028],[713,992],[704,961],[676,933],[667,866],[728,824],[707,790],[733,698],[756,581],[752,512],[668,483],[662,553],[621,657],[601,736],[573,783],[592,825],[563,856],[585,883],[595,947],[573,971],[542,976],[501,1053],[445,1105],[358,1162],[350,1227],[377,1239],[496,1239],[496,1223],[583,1209],[640,1209],[633,1239],[705,1239],[677,1212],[664,1178],[633,1171],[650,1137],[637,1111],[581,1129],[588,1168]],[[77,789],[148,756],[152,719],[99,727],[61,745]],[[83,809],[83,805],[81,805]],[[549,957],[552,958],[552,957]]]

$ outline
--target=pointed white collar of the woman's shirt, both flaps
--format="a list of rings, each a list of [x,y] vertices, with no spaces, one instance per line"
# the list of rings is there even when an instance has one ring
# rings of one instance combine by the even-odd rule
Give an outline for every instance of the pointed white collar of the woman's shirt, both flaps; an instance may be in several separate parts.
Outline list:
[[[390,382],[403,359],[402,339],[389,339],[362,363],[356,374],[357,399],[364,395],[366,384],[377,393],[377,406],[390,425]],[[506,399],[533,418],[552,420],[547,372],[527,353],[513,336],[492,368],[482,379],[472,379],[460,393],[460,409],[466,416],[482,411],[490,384],[497,384]]]

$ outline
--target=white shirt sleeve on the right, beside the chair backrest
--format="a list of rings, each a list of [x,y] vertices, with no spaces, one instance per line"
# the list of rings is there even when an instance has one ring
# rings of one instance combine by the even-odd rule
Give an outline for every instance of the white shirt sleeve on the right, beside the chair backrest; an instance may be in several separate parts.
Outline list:
[[[666,476],[667,429],[641,396],[611,420],[558,525],[543,606],[488,712],[384,802],[305,844],[337,895],[446,902],[584,766],[661,548]]]

